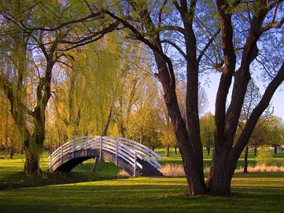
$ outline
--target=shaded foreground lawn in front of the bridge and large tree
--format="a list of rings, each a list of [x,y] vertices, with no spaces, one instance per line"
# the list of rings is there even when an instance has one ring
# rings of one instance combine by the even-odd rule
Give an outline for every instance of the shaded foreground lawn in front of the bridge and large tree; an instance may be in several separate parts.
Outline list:
[[[129,178],[0,191],[0,212],[282,212],[281,173],[238,174],[231,197],[187,197],[185,178]]]

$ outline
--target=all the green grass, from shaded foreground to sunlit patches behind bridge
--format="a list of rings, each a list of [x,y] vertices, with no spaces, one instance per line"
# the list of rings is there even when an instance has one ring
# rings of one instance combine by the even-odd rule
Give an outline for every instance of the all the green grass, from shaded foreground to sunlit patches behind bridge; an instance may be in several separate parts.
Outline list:
[[[158,151],[163,155],[163,151]],[[160,162],[181,163],[171,151]],[[40,166],[47,170],[47,153]],[[204,165],[211,156],[204,155]],[[242,160],[239,160],[241,165]],[[87,160],[70,174],[48,174],[28,179],[21,172],[24,158],[0,160],[0,212],[283,212],[284,173],[236,173],[231,197],[188,197],[185,178],[119,179],[119,168]],[[256,163],[253,153],[249,164]],[[273,155],[284,165],[284,154]],[[40,186],[40,187],[35,187]],[[21,187],[21,188],[19,188]],[[13,189],[14,188],[14,189]]]

